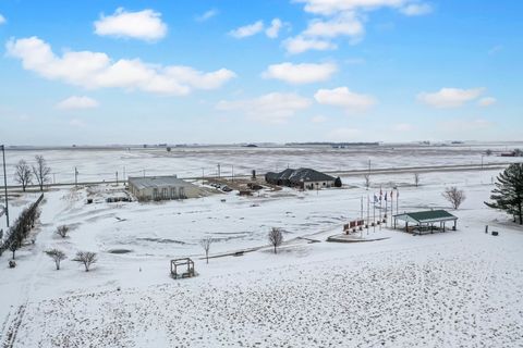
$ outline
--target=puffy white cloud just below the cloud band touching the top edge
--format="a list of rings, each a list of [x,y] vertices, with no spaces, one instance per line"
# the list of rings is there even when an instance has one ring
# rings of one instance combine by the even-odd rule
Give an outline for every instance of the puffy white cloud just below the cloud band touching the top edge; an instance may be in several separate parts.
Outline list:
[[[307,37],[333,38],[338,36],[358,37],[365,32],[362,22],[354,13],[345,13],[337,17],[324,21],[312,21],[303,35]]]

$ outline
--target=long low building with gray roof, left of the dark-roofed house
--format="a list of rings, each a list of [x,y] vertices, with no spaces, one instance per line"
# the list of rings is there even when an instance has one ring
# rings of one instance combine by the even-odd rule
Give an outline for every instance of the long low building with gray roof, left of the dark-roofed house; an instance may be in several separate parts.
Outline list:
[[[200,190],[175,175],[129,177],[129,190],[138,200],[197,198]]]

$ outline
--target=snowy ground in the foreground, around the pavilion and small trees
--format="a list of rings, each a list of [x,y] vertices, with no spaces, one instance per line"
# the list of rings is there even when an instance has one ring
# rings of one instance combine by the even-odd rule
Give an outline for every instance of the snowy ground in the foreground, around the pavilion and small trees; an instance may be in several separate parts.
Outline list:
[[[15,270],[0,269],[2,341],[12,347],[518,347],[523,345],[523,229],[487,209],[496,172],[376,175],[366,191],[290,189],[260,197],[217,195],[141,204],[85,204],[87,190],[48,192],[36,244]],[[459,231],[331,244],[343,222],[360,216],[361,197],[400,187],[400,211],[447,208],[441,191],[467,194],[455,212]],[[104,187],[98,189],[104,190]],[[226,202],[221,199],[226,198]],[[58,225],[74,226],[68,239]],[[500,232],[484,234],[485,225]],[[266,245],[272,226],[285,231],[279,254],[199,259]],[[364,232],[366,235],[367,232]],[[307,244],[306,236],[321,243]],[[62,270],[44,254],[72,258],[93,250],[89,273],[71,260]],[[111,250],[131,252],[114,254]],[[169,259],[192,256],[199,275],[172,281]],[[0,258],[7,264],[9,254]],[[120,290],[119,290],[120,288]]]

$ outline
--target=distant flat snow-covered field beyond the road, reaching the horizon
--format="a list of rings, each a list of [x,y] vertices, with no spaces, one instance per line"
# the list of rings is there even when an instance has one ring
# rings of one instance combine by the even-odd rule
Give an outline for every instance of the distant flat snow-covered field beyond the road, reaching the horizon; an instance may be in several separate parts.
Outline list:
[[[20,160],[29,164],[35,154],[41,154],[52,171],[51,181],[74,183],[75,167],[81,182],[114,181],[117,172],[123,175],[171,175],[199,177],[281,171],[288,166],[309,166],[321,171],[351,171],[402,166],[431,166],[449,164],[499,163],[521,159],[499,157],[501,152],[523,148],[522,142],[462,144],[447,146],[381,145],[379,147],[187,147],[172,148],[114,148],[114,149],[8,149],[8,181],[13,182],[14,165]],[[487,149],[494,154],[486,157]],[[482,159],[483,156],[483,159]],[[234,169],[232,167],[234,166]]]

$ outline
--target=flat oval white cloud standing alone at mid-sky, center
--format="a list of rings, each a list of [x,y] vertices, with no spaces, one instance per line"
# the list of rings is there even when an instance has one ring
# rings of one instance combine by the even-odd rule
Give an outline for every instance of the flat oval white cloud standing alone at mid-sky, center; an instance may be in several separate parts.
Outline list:
[[[289,84],[301,85],[327,80],[338,71],[333,63],[324,64],[293,64],[281,63],[267,67],[262,76],[264,78],[281,79]]]

